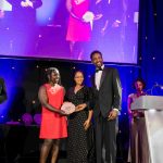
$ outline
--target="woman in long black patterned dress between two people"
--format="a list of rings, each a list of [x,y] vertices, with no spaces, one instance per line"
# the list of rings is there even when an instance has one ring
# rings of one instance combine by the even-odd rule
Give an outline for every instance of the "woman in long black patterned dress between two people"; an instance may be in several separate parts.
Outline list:
[[[93,162],[92,110],[90,89],[83,85],[84,73],[74,75],[75,86],[67,91],[67,100],[75,104],[75,112],[68,117],[68,163]]]

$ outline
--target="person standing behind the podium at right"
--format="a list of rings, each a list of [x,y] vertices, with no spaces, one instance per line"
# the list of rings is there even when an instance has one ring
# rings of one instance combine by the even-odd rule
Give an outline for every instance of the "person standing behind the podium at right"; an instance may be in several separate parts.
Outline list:
[[[130,104],[140,96],[146,96],[143,91],[146,87],[145,82],[138,78],[134,82],[134,88],[136,91],[128,96],[128,114],[130,126],[130,147],[128,154],[128,162],[131,163],[149,163],[149,147],[146,130],[146,120],[143,111],[131,111]]]

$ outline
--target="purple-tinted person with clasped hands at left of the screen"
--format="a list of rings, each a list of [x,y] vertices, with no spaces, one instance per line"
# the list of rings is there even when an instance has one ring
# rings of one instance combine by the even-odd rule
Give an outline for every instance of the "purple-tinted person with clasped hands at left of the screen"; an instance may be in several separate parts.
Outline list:
[[[11,22],[11,52],[17,54],[36,53],[38,28],[36,22],[37,9],[42,5],[41,0],[8,0],[12,4]],[[20,46],[21,45],[21,46]]]

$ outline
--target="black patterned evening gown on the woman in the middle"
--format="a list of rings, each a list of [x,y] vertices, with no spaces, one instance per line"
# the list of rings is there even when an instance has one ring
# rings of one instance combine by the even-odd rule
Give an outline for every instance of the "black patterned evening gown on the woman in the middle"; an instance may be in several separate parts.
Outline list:
[[[68,117],[67,161],[68,163],[92,163],[95,159],[92,125],[87,131],[84,129],[84,123],[91,109],[90,89],[84,86],[75,93],[74,87],[72,87],[67,91],[66,98],[75,105],[82,103],[88,105],[85,110],[75,112]]]

